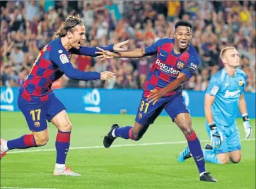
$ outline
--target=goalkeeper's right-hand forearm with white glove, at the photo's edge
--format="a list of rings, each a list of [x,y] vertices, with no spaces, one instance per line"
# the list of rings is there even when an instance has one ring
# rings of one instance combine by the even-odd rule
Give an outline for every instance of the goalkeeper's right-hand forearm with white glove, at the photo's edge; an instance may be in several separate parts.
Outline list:
[[[250,126],[250,122],[249,122],[249,117],[248,117],[248,113],[247,113],[247,106],[246,106],[246,102],[244,99],[244,94],[242,94],[239,98],[239,103],[238,103],[238,107],[241,113],[241,116],[243,117],[243,125],[244,125],[244,131],[246,133],[245,138],[250,138],[250,136],[252,135],[252,127]]]

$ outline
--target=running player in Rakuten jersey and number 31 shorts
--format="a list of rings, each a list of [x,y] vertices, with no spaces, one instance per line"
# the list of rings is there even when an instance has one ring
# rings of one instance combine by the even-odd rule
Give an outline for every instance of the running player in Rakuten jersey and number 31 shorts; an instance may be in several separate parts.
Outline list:
[[[96,53],[102,54],[99,56],[102,59],[144,57],[157,54],[143,86],[142,100],[138,107],[134,126],[119,127],[118,124],[114,124],[104,137],[103,143],[108,148],[117,137],[134,141],[140,140],[149,125],[165,109],[187,139],[200,173],[200,181],[216,182],[217,180],[205,170],[200,141],[192,129],[190,113],[182,96],[182,84],[191,78],[200,63],[199,54],[190,44],[191,29],[191,23],[179,21],[175,24],[174,39],[162,38],[149,47],[122,52],[109,52],[98,48],[100,52]]]

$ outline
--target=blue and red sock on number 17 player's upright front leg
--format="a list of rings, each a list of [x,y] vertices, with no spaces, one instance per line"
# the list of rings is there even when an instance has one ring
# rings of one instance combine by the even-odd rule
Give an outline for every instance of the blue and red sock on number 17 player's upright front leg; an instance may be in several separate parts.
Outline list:
[[[69,151],[70,146],[70,135],[71,131],[69,132],[62,132],[58,130],[55,147],[57,152],[56,163],[58,164],[65,164],[67,152]]]

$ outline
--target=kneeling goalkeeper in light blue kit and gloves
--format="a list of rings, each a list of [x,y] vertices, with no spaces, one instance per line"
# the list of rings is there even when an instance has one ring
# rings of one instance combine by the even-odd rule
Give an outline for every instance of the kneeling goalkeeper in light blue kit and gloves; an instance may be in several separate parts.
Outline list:
[[[205,95],[205,125],[211,145],[207,144],[203,152],[207,162],[238,163],[241,160],[241,141],[235,121],[238,107],[244,121],[245,138],[252,135],[244,99],[246,76],[236,68],[240,58],[235,47],[224,48],[220,57],[225,67],[211,77]],[[178,156],[178,161],[190,158],[191,153],[186,147]]]

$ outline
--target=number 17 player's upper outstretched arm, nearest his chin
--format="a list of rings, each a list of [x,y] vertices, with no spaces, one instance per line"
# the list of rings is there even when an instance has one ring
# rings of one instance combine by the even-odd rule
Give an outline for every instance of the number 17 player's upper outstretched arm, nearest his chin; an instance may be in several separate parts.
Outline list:
[[[128,44],[129,40],[127,41],[123,41],[117,44],[110,44],[107,47],[100,47],[101,49],[105,50],[105,51],[123,51],[122,46],[124,46],[125,44]],[[80,55],[84,55],[84,56],[91,56],[91,57],[96,57],[99,54],[96,54],[96,52],[99,51],[96,47],[85,47],[85,46],[81,46],[79,49],[75,49],[72,48],[70,49],[70,52],[73,54],[80,54]]]

